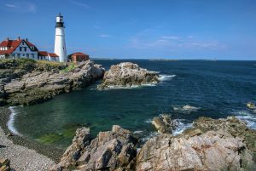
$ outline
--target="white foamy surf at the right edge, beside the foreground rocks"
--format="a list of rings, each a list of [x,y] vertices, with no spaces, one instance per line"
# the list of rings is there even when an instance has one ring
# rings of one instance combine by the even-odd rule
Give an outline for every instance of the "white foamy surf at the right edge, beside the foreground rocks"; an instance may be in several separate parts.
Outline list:
[[[256,112],[254,111],[234,111],[236,118],[247,124],[248,128],[256,129]]]

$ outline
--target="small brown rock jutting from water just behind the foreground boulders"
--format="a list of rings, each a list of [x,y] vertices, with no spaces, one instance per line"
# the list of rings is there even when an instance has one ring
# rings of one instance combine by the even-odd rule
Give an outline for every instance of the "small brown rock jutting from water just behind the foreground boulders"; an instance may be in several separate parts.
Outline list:
[[[170,115],[154,117],[152,124],[160,134],[172,134],[172,130],[177,127],[177,122],[172,120]]]

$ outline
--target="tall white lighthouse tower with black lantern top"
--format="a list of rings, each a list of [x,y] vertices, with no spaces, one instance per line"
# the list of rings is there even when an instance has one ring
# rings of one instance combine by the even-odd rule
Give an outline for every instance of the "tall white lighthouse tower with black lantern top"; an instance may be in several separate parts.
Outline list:
[[[60,62],[67,62],[67,49],[65,42],[63,16],[58,14],[55,24],[55,54],[60,57]]]

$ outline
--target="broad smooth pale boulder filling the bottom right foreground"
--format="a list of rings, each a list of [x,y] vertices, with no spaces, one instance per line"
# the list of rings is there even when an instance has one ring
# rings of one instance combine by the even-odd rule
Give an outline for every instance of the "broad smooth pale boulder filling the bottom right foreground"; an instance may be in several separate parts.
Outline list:
[[[254,170],[241,138],[208,131],[193,137],[161,134],[137,154],[139,170]]]

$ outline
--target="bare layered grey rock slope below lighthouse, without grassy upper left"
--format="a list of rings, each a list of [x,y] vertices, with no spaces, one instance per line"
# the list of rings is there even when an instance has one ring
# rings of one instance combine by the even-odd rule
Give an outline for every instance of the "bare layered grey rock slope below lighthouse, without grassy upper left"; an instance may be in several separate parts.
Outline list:
[[[84,88],[104,74],[102,66],[90,60],[71,71],[61,71],[59,67],[62,66],[36,64],[31,70],[5,84],[3,90],[9,104],[32,105],[43,102],[56,94]],[[1,92],[0,86],[0,95]]]

